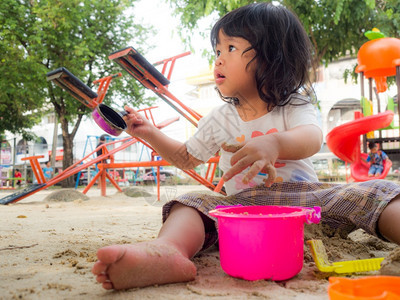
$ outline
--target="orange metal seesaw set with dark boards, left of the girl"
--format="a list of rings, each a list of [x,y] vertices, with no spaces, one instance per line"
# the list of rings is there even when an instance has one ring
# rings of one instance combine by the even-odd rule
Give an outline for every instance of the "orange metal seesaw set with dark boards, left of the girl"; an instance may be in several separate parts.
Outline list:
[[[158,95],[162,100],[168,103],[172,108],[174,108],[180,115],[185,117],[191,124],[197,127],[197,122],[201,119],[201,115],[192,110],[191,108],[184,105],[180,102],[169,90],[169,79],[172,74],[172,70],[175,64],[176,59],[181,58],[183,56],[189,55],[190,52],[186,52],[171,58],[164,59],[162,61],[156,62],[154,65],[163,65],[162,73],[160,73],[154,65],[150,64],[140,53],[138,53],[134,48],[128,47],[114,53],[111,53],[109,58],[116,63],[118,63],[124,70],[126,70],[131,76],[133,76],[136,80],[138,80],[145,88],[152,90],[156,95]],[[164,74],[167,72],[167,67],[169,65],[169,71],[167,78]],[[71,96],[75,99],[89,107],[90,109],[96,109],[103,101],[107,89],[110,85],[112,79],[122,76],[121,73],[113,74],[99,80],[94,81],[94,84],[99,84],[97,89],[97,93],[94,92],[91,88],[89,88],[86,84],[84,84],[81,80],[75,77],[71,72],[69,72],[66,68],[59,68],[54,71],[51,71],[47,74],[47,79],[55,82],[62,89],[66,90]],[[149,107],[142,111],[147,119],[149,119],[153,124],[162,129],[163,127],[175,122],[178,118],[171,118],[166,120],[160,124],[155,124],[153,115],[151,110],[155,107]],[[144,146],[148,147],[151,151],[151,160],[150,161],[138,161],[138,162],[122,162],[116,163],[114,161],[114,154],[118,151],[122,151],[127,147],[141,142]],[[107,146],[111,144],[120,144],[113,150],[108,150]],[[98,150],[102,150],[103,154],[99,155],[95,158],[94,154]],[[70,176],[73,176],[77,173],[80,173],[82,170],[87,169],[93,165],[97,165],[99,172],[93,177],[93,179],[88,183],[83,193],[87,193],[87,191],[95,184],[96,181],[99,182],[101,195],[106,196],[106,180],[114,185],[114,187],[122,192],[121,188],[114,180],[112,176],[110,176],[108,169],[124,169],[124,168],[139,168],[139,167],[156,167],[157,168],[157,199],[160,200],[160,167],[170,165],[164,159],[154,160],[154,157],[158,154],[154,151],[154,149],[147,144],[145,141],[142,141],[138,138],[126,138],[118,141],[113,141],[110,143],[103,144],[90,152],[80,161],[74,163],[72,166],[68,167],[66,170],[55,176],[54,178],[46,181],[43,175],[43,171],[40,167],[38,159],[42,158],[42,156],[31,156],[25,158],[25,160],[29,160],[34,175],[37,179],[38,184],[31,185],[30,187],[18,191],[12,195],[9,195],[5,198],[0,199],[0,204],[8,204],[15,203],[20,201],[33,193],[36,193],[42,189],[45,189],[49,186],[52,186]],[[108,162],[107,160],[110,160]],[[211,190],[215,190],[216,186],[213,184],[215,170],[217,168],[217,164],[219,161],[219,156],[215,156],[211,158],[208,163],[208,168],[206,175],[204,177],[197,174],[194,170],[184,170],[186,174],[190,177],[208,187]],[[220,188],[217,189],[220,193],[224,194],[223,191],[220,191]]]

